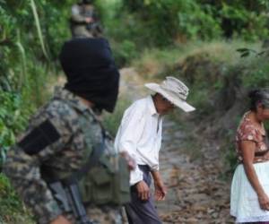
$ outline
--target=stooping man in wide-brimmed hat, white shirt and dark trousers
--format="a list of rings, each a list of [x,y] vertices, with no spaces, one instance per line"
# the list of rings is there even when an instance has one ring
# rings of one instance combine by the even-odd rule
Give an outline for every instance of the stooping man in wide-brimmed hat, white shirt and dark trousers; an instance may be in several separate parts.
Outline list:
[[[152,174],[155,200],[164,200],[167,190],[159,173],[162,116],[175,107],[186,112],[195,110],[186,102],[187,86],[174,77],[167,77],[161,84],[145,86],[156,93],[135,101],[126,109],[115,141],[116,149],[128,151],[137,164],[130,176],[132,199],[125,207],[130,224],[161,223],[152,202],[150,185]]]

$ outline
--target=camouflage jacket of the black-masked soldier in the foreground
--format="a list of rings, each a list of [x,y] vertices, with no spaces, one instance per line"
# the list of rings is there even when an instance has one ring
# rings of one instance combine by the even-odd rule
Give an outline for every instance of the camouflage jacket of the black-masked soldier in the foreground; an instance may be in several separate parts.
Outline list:
[[[101,132],[91,108],[68,90],[58,89],[8,152],[4,173],[39,223],[47,224],[62,213],[41,176],[41,166],[57,177],[69,177],[102,141]]]

